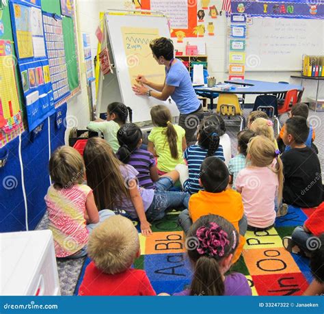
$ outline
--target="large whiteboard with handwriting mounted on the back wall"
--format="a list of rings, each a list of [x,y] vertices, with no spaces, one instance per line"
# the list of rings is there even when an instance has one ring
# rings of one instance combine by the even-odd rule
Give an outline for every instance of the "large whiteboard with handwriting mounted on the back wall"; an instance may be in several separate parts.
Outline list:
[[[253,17],[247,25],[247,71],[301,71],[302,55],[323,55],[323,20]]]

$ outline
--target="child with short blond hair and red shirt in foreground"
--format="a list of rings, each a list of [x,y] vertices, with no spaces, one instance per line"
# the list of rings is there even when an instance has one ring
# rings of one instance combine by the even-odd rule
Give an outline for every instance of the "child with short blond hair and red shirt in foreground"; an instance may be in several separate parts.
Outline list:
[[[94,229],[89,238],[87,265],[79,296],[155,296],[144,270],[131,268],[140,256],[133,222],[116,215]]]

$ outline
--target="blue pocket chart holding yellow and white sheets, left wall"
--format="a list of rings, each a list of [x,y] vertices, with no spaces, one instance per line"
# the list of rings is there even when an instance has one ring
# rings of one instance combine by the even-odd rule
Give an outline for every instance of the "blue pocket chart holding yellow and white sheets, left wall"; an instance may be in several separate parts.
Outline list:
[[[28,129],[32,131],[55,111],[40,1],[13,0],[10,12]]]

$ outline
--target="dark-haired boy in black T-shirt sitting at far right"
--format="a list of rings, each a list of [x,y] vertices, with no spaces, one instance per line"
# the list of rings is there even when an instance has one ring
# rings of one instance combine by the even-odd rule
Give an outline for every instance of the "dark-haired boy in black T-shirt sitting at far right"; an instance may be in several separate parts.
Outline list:
[[[310,133],[307,120],[293,116],[286,120],[282,140],[289,151],[282,154],[284,163],[283,199],[288,205],[312,208],[322,202],[321,164],[314,150],[305,142]]]

